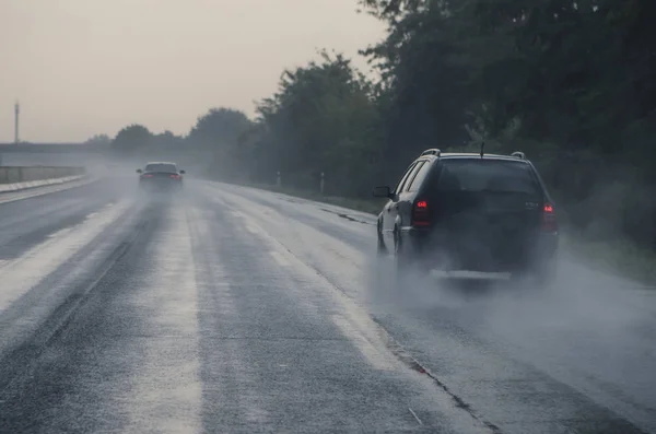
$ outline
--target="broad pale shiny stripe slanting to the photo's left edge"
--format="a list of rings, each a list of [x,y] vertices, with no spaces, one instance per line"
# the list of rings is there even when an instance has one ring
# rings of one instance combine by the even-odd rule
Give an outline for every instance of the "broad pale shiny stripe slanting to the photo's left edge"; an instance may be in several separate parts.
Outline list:
[[[70,259],[80,247],[103,233],[130,208],[125,202],[102,212],[96,219],[51,234],[44,243],[31,248],[20,258],[8,260],[0,269],[0,312],[34,288],[46,275]],[[66,236],[63,236],[66,235]]]

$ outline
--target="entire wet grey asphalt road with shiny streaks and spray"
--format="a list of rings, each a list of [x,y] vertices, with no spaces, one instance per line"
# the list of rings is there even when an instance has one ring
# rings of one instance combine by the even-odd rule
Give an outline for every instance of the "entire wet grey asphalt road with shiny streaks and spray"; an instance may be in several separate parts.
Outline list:
[[[0,204],[0,433],[656,432],[656,292],[396,288],[371,215],[132,190]]]

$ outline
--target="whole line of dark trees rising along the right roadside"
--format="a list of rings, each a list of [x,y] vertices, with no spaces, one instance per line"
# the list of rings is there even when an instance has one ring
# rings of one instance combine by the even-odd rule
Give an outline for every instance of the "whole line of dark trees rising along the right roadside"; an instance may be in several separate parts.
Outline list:
[[[211,150],[216,178],[273,183],[281,172],[315,189],[325,173],[329,193],[367,198],[426,148],[484,140],[539,166],[571,227],[656,249],[656,2],[359,3],[387,24],[362,49],[376,79],[324,50],[283,71],[255,119],[215,109],[178,144]]]

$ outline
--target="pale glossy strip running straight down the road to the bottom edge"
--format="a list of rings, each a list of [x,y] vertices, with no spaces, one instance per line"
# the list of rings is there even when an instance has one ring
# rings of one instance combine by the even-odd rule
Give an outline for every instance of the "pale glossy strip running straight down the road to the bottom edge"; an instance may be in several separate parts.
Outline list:
[[[148,339],[130,336],[130,387],[120,397],[130,432],[202,431],[198,284],[186,211],[167,215],[167,227],[151,239],[153,272],[132,277],[125,303],[141,313]],[[141,347],[141,348],[139,348]],[[122,382],[124,379],[117,379]],[[116,389],[120,389],[117,387]]]

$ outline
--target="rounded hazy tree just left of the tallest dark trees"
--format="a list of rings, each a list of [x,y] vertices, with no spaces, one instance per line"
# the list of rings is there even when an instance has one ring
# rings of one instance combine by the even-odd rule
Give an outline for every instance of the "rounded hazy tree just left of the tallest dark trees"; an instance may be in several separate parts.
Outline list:
[[[363,193],[382,151],[374,86],[341,54],[319,56],[284,71],[258,105],[251,152],[261,176],[281,171],[286,184],[317,188],[324,172],[333,191]]]

